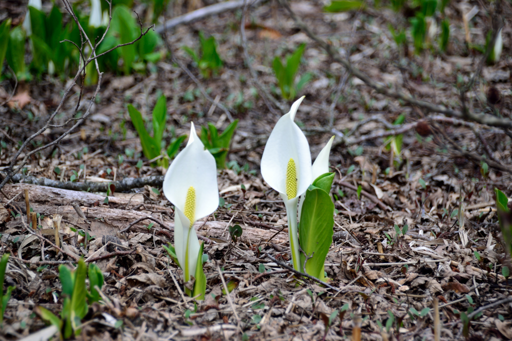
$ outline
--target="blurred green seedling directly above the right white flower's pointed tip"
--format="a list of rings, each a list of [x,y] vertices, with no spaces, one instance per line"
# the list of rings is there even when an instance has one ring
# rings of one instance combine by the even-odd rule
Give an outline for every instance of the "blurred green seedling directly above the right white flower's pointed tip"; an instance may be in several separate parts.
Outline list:
[[[305,73],[297,83],[295,77],[298,71],[298,66],[301,64],[301,57],[306,48],[306,44],[301,44],[295,52],[286,58],[286,66],[283,65],[279,57],[275,57],[272,62],[275,77],[278,79],[279,87],[281,88],[281,95],[284,99],[293,99],[298,92],[309,82],[311,79],[310,73]]]

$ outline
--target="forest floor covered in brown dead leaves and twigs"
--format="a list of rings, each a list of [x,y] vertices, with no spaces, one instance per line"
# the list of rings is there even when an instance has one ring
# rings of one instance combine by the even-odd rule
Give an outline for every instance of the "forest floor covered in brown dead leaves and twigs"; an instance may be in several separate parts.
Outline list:
[[[336,50],[349,53],[352,65],[374,81],[417,99],[460,108],[456,84],[470,81],[482,57],[467,50],[461,19],[466,7],[475,4],[450,3],[447,52],[426,50],[419,55],[412,53],[412,46],[405,52],[397,48],[389,32],[389,24],[407,25],[401,13],[386,8],[325,13],[314,1],[294,2],[291,8]],[[503,2],[503,11],[510,14],[507,4]],[[168,17],[177,14],[172,13],[175,7]],[[475,44],[485,42],[490,25],[485,11],[481,8],[472,21]],[[157,98],[165,95],[166,143],[188,135],[190,122],[198,128],[211,122],[224,130],[230,117],[217,103],[225,105],[240,121],[228,169],[219,171],[223,205],[195,225],[198,235],[208,240],[206,299],[195,303],[184,296],[182,272],[162,247],[174,243],[174,211],[161,185],[113,193],[105,203],[106,193],[9,183],[0,196],[0,249],[11,254],[6,285],[15,289],[0,338],[18,339],[45,328],[34,307],[60,312],[58,265],[76,264],[83,255],[89,262],[94,259],[105,274],[105,303],[90,307],[81,339],[337,340],[359,339],[360,332],[364,340],[434,340],[434,325],[445,340],[511,339],[512,283],[502,275],[502,265],[510,263],[494,195],[499,188],[512,197],[510,137],[497,127],[464,124],[378,94],[333,61],[276,2],[247,11],[246,48],[258,82],[288,110],[291,101],[280,99],[272,60],[306,43],[298,73],[312,77],[298,94],[306,98],[295,121],[307,135],[313,160],[333,133],[336,136],[330,157],[335,236],[325,271],[328,284],[337,290],[266,257],[268,253],[279,263],[289,260],[285,207],[260,172],[266,139],[283,113],[261,94],[247,68],[242,14],[241,9],[225,12],[167,32],[168,57],[145,74],[106,72],[90,117],[55,147],[34,155],[23,169],[24,175],[62,183],[161,176],[165,169],[143,158],[127,104],[150,118]],[[201,77],[181,48],[197,48],[198,32],[216,37],[224,60],[219,74],[209,79]],[[501,61],[484,65],[466,94],[467,108],[477,114],[510,116],[510,23],[503,36]],[[14,82],[3,85],[1,102],[9,98]],[[56,109],[65,87],[66,82],[43,76],[18,84],[17,106],[0,106],[0,170],[8,167],[18,144]],[[495,105],[488,102],[490,87],[499,94]],[[56,124],[74,110],[79,91],[75,86]],[[83,105],[94,91],[84,88]],[[404,121],[393,126],[402,114]],[[51,142],[65,130],[48,129],[28,149]],[[387,148],[390,130],[402,141],[399,155]],[[478,161],[467,152],[487,158]],[[42,244],[27,230],[25,189],[31,209],[40,215],[38,225],[46,238]],[[62,219],[63,252],[53,246],[54,233],[48,232],[57,216]],[[170,231],[150,220],[132,225],[146,216]],[[235,224],[243,230],[236,241],[228,234]],[[93,237],[87,247],[77,229]],[[222,292],[223,281],[232,288],[229,297]],[[439,302],[437,310],[434,301]],[[481,314],[472,314],[479,308]],[[437,311],[440,323],[435,324]]]

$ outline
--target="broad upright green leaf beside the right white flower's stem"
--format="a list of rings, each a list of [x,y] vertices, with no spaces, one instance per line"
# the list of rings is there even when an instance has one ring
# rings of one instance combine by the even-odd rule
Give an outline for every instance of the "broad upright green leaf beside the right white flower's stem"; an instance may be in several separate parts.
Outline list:
[[[306,272],[319,279],[324,279],[325,258],[332,244],[333,214],[334,204],[325,190],[313,188],[306,191],[298,226],[299,242],[308,257],[312,255],[306,263]],[[301,252],[301,264],[305,259]]]

